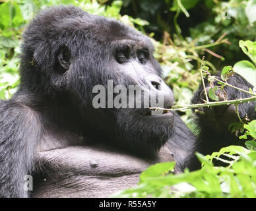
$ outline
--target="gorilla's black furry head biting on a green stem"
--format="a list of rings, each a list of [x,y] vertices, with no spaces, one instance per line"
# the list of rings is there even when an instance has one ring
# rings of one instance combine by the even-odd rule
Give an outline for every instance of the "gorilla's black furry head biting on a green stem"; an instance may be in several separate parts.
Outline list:
[[[174,113],[152,115],[148,109],[168,108],[174,98],[160,78],[162,69],[152,55],[154,47],[143,34],[76,7],[53,7],[32,21],[23,46],[26,68],[21,71],[22,84],[30,80],[29,88],[34,92],[48,96],[61,93],[70,102],[76,98],[79,124],[84,125],[86,133],[97,131],[141,154],[158,152],[172,136]],[[27,61],[33,61],[33,65]],[[93,89],[99,85],[105,88],[106,107],[96,108],[93,99],[99,93],[93,93]],[[129,92],[132,86],[141,92]],[[127,98],[117,108],[113,101],[120,91]],[[158,104],[153,105],[152,99]]]

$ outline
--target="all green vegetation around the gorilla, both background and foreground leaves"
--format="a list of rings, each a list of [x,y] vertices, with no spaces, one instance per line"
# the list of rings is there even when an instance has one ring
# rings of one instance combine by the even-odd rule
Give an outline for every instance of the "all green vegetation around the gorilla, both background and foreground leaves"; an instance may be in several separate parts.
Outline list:
[[[222,70],[225,78],[234,71],[256,86],[255,0],[3,0],[1,99],[11,98],[19,84],[20,37],[26,24],[39,9],[59,4],[73,4],[89,13],[117,18],[150,36],[164,78],[174,90],[176,104],[181,106],[178,112],[192,130],[195,125],[191,110],[184,109],[184,105],[190,104],[201,82],[201,73],[212,75]],[[249,92],[251,100],[255,100],[255,90]],[[210,98],[219,103],[216,97],[212,89]],[[245,146],[229,146],[205,157],[197,154],[202,169],[186,169],[180,175],[172,174],[174,163],[156,164],[141,174],[138,187],[115,196],[255,197],[256,120],[232,123],[230,133],[237,133]],[[228,166],[213,166],[213,159]]]

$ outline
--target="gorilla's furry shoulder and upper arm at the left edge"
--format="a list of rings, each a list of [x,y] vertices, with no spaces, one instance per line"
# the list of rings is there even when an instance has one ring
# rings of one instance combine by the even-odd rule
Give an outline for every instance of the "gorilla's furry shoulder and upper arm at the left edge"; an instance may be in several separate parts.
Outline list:
[[[41,137],[36,112],[13,100],[0,102],[0,197],[28,197],[24,176],[33,168]]]

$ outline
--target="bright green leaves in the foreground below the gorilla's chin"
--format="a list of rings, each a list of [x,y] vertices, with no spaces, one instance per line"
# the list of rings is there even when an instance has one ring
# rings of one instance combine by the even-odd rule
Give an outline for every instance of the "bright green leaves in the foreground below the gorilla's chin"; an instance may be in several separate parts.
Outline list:
[[[172,173],[174,162],[155,164],[141,174],[137,187],[114,197],[256,197],[256,121],[244,127],[253,137],[245,142],[247,148],[228,146],[208,156],[197,153],[202,168],[178,175]],[[228,166],[214,166],[214,159]]]

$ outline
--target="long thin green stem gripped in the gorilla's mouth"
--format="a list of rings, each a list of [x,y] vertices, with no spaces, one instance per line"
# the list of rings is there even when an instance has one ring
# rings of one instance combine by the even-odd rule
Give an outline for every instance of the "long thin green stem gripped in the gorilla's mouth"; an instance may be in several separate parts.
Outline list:
[[[197,108],[197,107],[212,107],[212,106],[229,106],[230,104],[238,105],[243,104],[246,102],[251,102],[256,100],[256,96],[250,97],[250,98],[243,98],[240,100],[226,100],[226,101],[218,101],[218,102],[208,102],[207,104],[193,104],[193,105],[187,105],[187,106],[172,106],[172,108],[162,108],[162,107],[150,107],[149,109],[161,109],[166,111],[177,111],[177,110],[184,110],[184,109],[191,109],[191,108]]]

